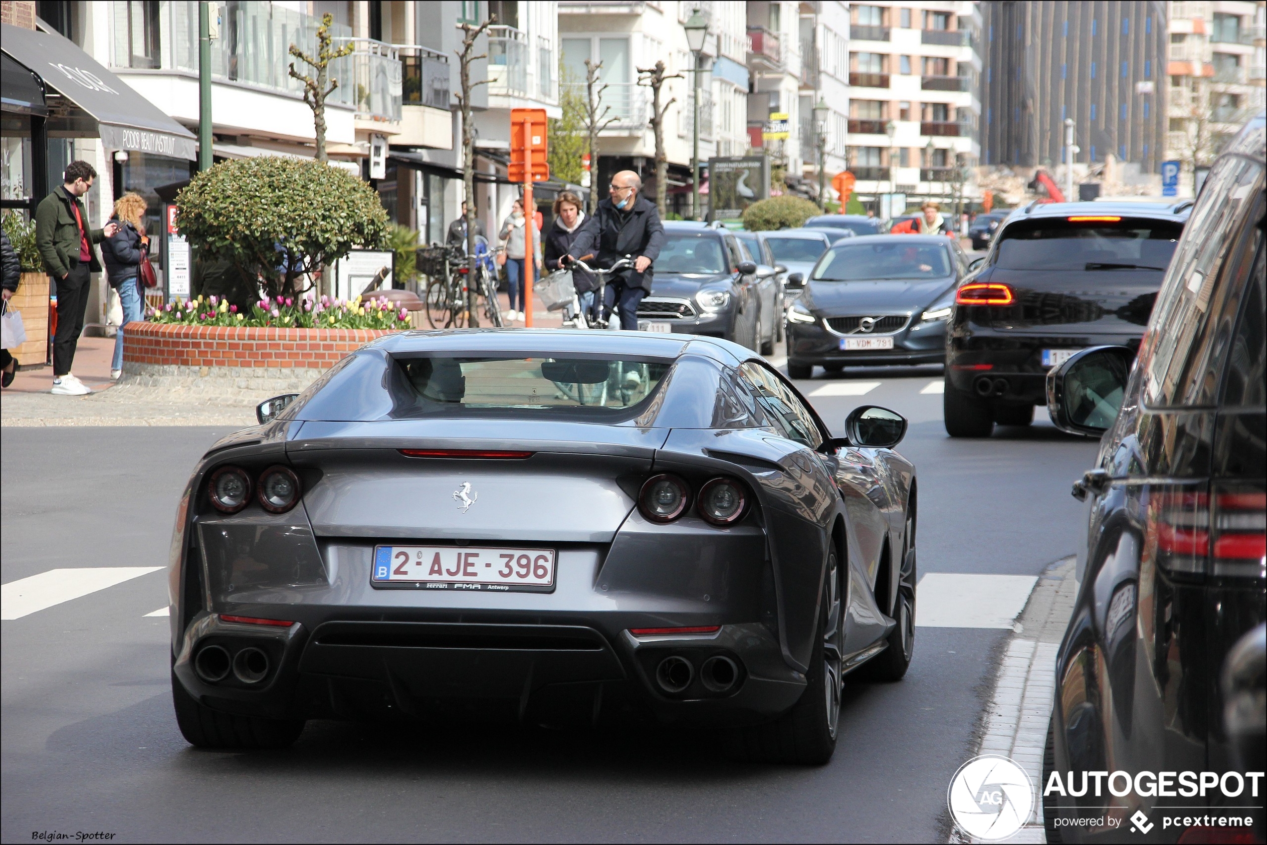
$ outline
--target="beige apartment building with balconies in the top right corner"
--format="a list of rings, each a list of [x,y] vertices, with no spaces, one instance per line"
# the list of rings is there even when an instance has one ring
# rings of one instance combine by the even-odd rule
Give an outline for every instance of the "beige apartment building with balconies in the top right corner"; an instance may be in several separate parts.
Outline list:
[[[1168,3],[1166,155],[1181,163],[1180,196],[1191,196],[1195,166],[1214,161],[1264,106],[1261,0]]]

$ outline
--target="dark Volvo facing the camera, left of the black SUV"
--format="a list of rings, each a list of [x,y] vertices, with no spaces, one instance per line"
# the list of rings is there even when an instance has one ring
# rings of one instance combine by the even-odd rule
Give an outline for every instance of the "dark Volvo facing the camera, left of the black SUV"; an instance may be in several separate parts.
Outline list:
[[[840,241],[788,309],[788,375],[848,365],[940,364],[968,258],[953,238],[873,234]]]

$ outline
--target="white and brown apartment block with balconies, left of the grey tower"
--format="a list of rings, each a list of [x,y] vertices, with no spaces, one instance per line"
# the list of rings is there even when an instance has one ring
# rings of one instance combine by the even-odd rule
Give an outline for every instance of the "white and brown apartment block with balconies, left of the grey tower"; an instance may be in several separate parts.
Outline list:
[[[851,4],[850,15],[846,144],[859,201],[878,213],[882,193],[907,203],[974,196],[965,177],[981,157],[978,4]]]

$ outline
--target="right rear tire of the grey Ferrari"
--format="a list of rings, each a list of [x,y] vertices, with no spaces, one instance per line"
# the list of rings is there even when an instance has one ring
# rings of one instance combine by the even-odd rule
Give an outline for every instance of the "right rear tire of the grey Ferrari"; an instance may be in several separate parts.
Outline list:
[[[810,654],[805,692],[792,709],[773,722],[739,731],[735,751],[745,760],[824,765],[836,750],[840,727],[844,597],[836,550],[827,552],[817,635]]]

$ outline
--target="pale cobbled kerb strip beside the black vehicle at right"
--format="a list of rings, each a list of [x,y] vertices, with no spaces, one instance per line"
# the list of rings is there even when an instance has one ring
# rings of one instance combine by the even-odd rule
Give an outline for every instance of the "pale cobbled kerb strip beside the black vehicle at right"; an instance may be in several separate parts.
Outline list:
[[[1034,816],[1009,842],[1045,842],[1043,829],[1043,750],[1055,693],[1055,654],[1077,598],[1074,560],[1059,560],[1043,573],[1014,627],[977,754],[1011,758],[1036,788]],[[967,840],[955,831],[953,842]]]

